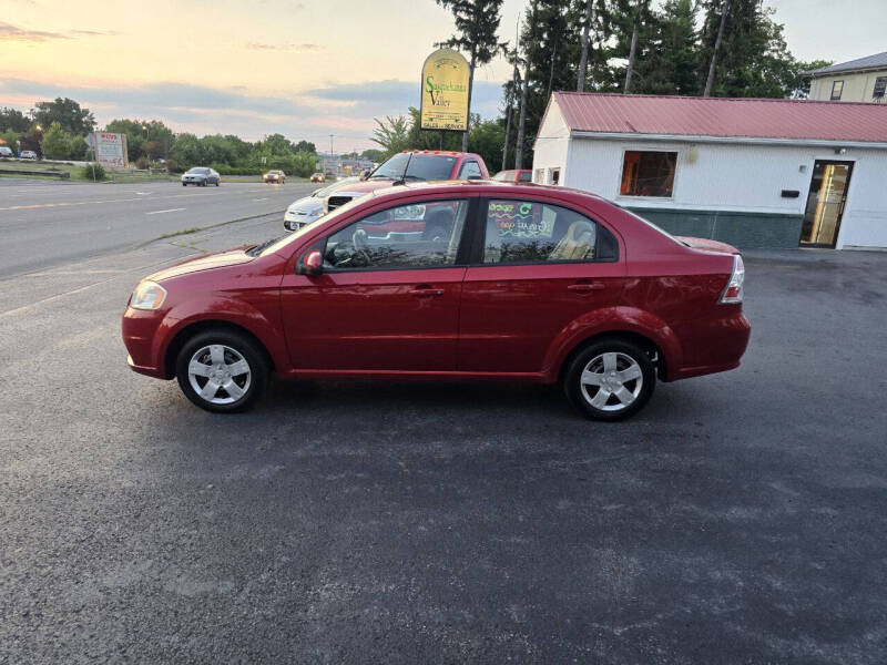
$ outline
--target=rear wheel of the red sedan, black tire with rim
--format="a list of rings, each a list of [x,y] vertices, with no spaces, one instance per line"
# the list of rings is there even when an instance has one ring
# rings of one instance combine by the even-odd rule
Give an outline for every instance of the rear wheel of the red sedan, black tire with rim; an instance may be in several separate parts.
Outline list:
[[[609,370],[604,368],[604,362],[610,364]],[[622,377],[636,374],[635,367],[640,369],[640,376],[622,381]],[[595,375],[594,381],[606,383],[583,381],[582,374],[587,368]],[[639,379],[640,386],[636,383]],[[650,354],[641,346],[621,338],[604,338],[592,342],[577,354],[563,372],[567,398],[583,416],[593,420],[612,421],[633,416],[650,401],[655,385],[656,369]],[[610,390],[611,388],[615,390]],[[600,396],[599,391],[602,391]],[[633,401],[625,405],[629,396],[633,397]],[[599,403],[593,405],[592,400]]]

